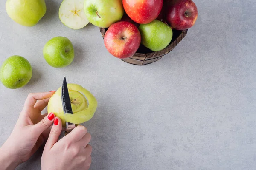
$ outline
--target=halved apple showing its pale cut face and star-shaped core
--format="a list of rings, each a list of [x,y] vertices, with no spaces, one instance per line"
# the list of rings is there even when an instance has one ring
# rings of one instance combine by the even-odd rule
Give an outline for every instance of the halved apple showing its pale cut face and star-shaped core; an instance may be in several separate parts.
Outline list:
[[[63,0],[59,18],[65,26],[72,29],[81,29],[90,23],[84,14],[84,0]]]

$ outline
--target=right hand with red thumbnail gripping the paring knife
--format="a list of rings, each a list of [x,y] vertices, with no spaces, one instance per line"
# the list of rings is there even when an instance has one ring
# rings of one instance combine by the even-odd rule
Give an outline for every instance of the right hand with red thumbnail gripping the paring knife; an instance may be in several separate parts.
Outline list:
[[[41,158],[42,170],[88,170],[91,164],[91,135],[84,126],[77,126],[58,140],[61,119],[55,117]]]

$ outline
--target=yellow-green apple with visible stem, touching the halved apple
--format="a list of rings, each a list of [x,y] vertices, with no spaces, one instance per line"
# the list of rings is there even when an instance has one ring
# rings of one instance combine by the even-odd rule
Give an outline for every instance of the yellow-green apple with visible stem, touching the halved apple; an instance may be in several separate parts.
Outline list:
[[[122,0],[84,0],[84,12],[93,25],[108,28],[122,19]]]

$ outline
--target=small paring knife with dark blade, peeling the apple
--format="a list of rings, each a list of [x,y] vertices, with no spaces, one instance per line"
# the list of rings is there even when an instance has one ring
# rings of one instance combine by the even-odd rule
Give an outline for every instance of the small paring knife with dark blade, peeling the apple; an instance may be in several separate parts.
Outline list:
[[[73,114],[72,107],[71,107],[71,102],[70,102],[70,96],[69,96],[68,88],[67,88],[66,77],[64,77],[63,83],[62,83],[61,99],[62,99],[62,106],[63,106],[64,114]],[[68,133],[70,133],[75,127],[76,127],[75,124],[70,123],[70,122],[66,122],[65,136]]]

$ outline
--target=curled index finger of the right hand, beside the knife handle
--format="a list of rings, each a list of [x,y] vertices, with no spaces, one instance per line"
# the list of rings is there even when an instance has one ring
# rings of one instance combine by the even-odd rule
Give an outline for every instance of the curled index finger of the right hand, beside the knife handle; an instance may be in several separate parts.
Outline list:
[[[87,128],[82,125],[78,125],[69,134],[64,136],[64,138],[67,138],[65,140],[68,140],[69,142],[77,142],[81,140],[86,133]]]

